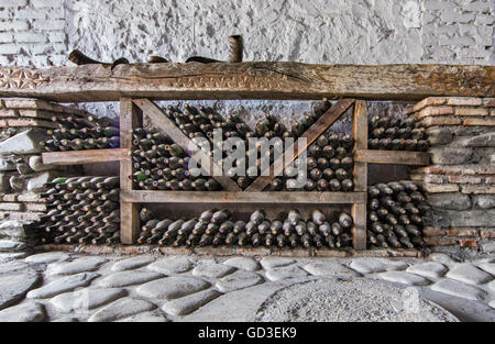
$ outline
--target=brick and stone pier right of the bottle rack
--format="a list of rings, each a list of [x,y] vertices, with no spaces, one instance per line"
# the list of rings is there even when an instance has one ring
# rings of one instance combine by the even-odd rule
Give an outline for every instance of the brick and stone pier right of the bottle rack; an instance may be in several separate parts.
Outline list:
[[[427,98],[406,112],[431,142],[431,165],[411,174],[433,207],[426,243],[495,252],[495,99]]]

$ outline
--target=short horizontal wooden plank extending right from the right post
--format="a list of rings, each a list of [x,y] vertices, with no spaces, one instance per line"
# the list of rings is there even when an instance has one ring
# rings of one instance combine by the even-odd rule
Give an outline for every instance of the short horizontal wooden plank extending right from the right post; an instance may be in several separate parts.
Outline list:
[[[430,153],[408,151],[358,149],[355,162],[369,164],[397,164],[422,166],[430,164]]]

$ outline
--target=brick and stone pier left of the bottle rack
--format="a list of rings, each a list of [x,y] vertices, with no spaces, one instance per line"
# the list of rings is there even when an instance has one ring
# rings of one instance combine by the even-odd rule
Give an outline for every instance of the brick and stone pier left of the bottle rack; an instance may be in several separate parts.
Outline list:
[[[44,165],[40,142],[53,115],[86,112],[33,99],[0,99],[0,237],[22,236],[22,222],[46,211],[38,193],[44,184],[75,167]]]

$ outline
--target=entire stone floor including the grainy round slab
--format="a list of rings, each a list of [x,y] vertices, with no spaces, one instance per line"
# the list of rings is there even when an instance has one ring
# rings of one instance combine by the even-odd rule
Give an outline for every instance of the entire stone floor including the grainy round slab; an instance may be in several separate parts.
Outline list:
[[[493,322],[494,262],[0,249],[0,321]]]

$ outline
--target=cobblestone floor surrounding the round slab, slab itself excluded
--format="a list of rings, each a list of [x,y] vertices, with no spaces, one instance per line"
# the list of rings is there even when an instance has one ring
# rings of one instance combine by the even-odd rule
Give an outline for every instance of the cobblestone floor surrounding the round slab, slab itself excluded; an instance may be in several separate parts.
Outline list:
[[[461,321],[495,321],[495,257],[289,258],[0,254],[0,321],[255,321],[275,291],[312,279],[405,285]],[[331,282],[331,279],[328,279]]]

